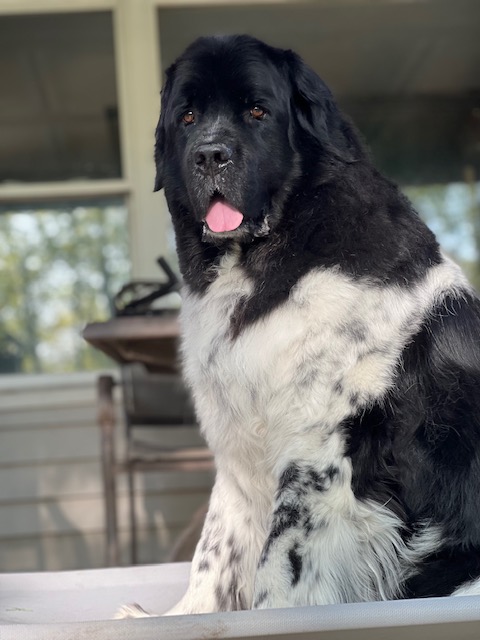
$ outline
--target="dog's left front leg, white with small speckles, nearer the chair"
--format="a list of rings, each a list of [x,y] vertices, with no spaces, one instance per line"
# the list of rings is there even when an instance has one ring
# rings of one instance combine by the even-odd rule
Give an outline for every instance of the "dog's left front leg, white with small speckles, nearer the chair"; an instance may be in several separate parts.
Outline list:
[[[242,491],[238,478],[217,472],[188,590],[167,615],[252,606],[255,567],[265,535],[258,524],[257,504]]]

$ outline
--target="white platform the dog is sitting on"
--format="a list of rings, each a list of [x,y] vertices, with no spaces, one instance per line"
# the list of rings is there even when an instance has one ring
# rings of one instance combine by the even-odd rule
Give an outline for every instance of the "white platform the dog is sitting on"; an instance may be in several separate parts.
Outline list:
[[[188,564],[0,575],[0,640],[480,640],[480,596],[112,620],[122,604],[162,613]]]

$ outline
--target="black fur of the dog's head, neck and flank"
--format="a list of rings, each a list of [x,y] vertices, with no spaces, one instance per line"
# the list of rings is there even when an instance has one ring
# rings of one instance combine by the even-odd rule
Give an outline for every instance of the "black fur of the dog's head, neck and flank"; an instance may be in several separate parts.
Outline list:
[[[250,114],[256,105],[263,119]],[[194,121],[185,124],[190,111]],[[230,160],[218,173],[194,159],[212,142],[225,145]],[[165,188],[188,289],[204,296],[233,249],[253,283],[230,318],[230,340],[280,308],[314,269],[408,290],[442,263],[433,234],[375,169],[326,85],[291,51],[248,36],[197,40],[167,72],[155,160],[155,188]],[[239,229],[218,237],[205,227],[214,197],[244,214]],[[439,300],[405,345],[389,391],[368,405],[355,394],[350,402],[339,428],[355,496],[388,504],[407,541],[419,523],[441,528],[438,548],[406,579],[400,597],[447,595],[477,579],[475,294],[464,289]]]

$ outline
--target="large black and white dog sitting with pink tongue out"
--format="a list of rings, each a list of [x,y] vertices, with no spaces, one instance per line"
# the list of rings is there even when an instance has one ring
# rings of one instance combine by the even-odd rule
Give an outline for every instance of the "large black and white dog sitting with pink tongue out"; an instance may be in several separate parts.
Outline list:
[[[480,303],[329,89],[201,38],[155,158],[217,466],[170,613],[480,593]]]

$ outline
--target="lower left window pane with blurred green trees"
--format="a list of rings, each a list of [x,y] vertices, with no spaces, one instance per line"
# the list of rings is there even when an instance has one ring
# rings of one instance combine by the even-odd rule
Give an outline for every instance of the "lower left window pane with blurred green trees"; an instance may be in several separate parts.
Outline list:
[[[0,207],[0,373],[111,366],[80,333],[129,279],[121,201]]]

